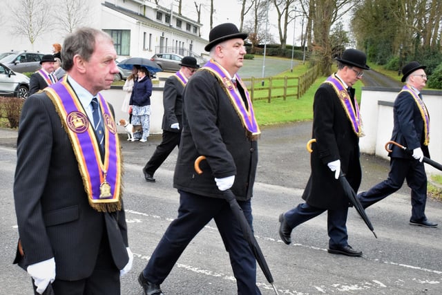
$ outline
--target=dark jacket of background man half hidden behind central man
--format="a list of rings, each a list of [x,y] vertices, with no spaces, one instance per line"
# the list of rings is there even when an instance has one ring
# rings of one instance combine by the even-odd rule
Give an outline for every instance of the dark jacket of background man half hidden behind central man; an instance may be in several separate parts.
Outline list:
[[[180,132],[182,129],[182,91],[183,84],[175,75],[166,79],[163,91],[164,115],[162,129],[172,132]],[[179,123],[180,130],[171,128],[172,124]]]

